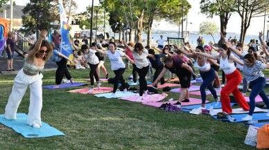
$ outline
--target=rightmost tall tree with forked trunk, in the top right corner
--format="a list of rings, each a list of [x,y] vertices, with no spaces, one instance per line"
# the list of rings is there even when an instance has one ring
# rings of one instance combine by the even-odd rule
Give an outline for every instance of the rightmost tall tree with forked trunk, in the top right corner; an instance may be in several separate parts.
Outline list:
[[[250,27],[252,17],[261,15],[264,11],[268,10],[268,0],[237,0],[236,6],[238,15],[241,17],[241,32],[239,41],[243,44],[245,35]]]

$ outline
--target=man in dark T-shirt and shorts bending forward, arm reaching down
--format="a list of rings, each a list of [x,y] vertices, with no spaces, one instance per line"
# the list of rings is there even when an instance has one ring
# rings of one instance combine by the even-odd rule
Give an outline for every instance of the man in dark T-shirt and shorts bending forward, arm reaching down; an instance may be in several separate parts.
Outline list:
[[[192,68],[188,64],[185,64],[181,59],[178,59],[177,56],[166,57],[166,59],[164,59],[164,64],[165,66],[157,79],[153,82],[153,86],[155,86],[159,79],[164,76],[166,71],[169,70],[171,73],[175,73],[175,75],[177,75],[177,77],[180,79],[181,93],[178,102],[174,105],[180,107],[183,99],[185,99],[184,102],[189,101],[189,87],[191,84],[191,75],[194,75],[195,77],[197,76],[195,73],[193,73]]]

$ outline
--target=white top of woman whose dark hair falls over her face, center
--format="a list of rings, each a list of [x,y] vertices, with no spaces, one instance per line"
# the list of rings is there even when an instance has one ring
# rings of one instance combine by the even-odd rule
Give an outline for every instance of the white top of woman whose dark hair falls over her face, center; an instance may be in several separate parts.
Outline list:
[[[143,67],[148,66],[148,61],[147,61],[148,50],[147,49],[144,49],[141,55],[132,51],[132,56],[134,57],[134,64],[137,66],[137,68],[143,68]]]

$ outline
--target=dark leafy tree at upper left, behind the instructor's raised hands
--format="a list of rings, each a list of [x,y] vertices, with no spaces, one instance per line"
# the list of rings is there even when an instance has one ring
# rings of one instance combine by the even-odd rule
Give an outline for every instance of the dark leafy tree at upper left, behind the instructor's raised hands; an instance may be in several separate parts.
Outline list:
[[[30,0],[22,10],[22,24],[28,30],[38,30],[51,28],[51,1]],[[37,34],[37,39],[39,35]]]

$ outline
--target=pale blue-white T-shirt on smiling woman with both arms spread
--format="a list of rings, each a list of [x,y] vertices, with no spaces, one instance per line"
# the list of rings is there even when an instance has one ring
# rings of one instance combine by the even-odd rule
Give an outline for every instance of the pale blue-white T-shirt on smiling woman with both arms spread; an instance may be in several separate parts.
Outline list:
[[[116,71],[119,68],[125,68],[125,64],[121,57],[125,55],[121,50],[115,50],[115,53],[112,54],[110,50],[105,51],[107,56],[110,58],[111,70]]]

